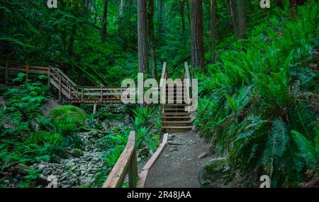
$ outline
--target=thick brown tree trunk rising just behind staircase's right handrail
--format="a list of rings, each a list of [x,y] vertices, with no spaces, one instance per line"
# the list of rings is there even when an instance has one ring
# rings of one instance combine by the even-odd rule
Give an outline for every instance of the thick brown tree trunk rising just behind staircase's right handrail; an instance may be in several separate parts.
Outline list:
[[[206,72],[204,63],[202,0],[191,0],[191,67]]]

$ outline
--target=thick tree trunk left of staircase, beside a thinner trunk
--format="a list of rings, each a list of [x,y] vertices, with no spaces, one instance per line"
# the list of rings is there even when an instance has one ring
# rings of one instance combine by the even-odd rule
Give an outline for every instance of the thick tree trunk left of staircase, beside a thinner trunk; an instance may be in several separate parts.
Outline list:
[[[148,74],[146,0],[138,0],[138,71]]]

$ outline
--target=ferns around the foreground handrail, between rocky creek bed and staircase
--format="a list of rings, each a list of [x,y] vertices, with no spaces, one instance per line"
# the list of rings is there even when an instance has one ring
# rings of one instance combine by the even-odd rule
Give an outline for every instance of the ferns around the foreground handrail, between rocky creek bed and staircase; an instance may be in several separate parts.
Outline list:
[[[111,169],[125,148],[130,131],[135,130],[138,157],[139,159],[142,158],[138,162],[147,159],[157,149],[161,128],[159,108],[157,106],[148,106],[133,109],[132,122],[131,125],[123,126],[123,128],[106,129],[106,135],[99,140],[98,147],[101,147],[103,150],[106,168],[100,169],[96,174],[94,186],[101,186],[106,180],[109,172],[111,172]]]

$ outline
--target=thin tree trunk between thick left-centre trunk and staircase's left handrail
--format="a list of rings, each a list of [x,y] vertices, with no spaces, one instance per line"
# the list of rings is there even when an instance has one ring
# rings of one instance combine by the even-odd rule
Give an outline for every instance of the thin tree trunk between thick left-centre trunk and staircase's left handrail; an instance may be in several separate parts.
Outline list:
[[[157,78],[155,59],[155,35],[154,35],[154,0],[148,1],[148,37],[150,41],[150,59],[152,64],[152,77]]]

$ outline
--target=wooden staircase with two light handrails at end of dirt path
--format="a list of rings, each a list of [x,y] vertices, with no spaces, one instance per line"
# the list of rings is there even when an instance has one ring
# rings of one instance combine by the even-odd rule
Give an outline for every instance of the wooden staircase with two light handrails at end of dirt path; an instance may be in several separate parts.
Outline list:
[[[184,64],[184,78],[189,78],[188,65]],[[166,81],[165,77],[168,77],[166,72],[166,64],[163,66],[162,77]],[[183,78],[183,79],[184,79]],[[163,80],[163,82],[164,82]],[[169,86],[167,82],[162,84],[165,89],[164,103],[162,101],[162,124],[163,128],[167,132],[179,132],[191,130],[193,127],[193,121],[191,120],[191,113],[187,111],[187,103],[184,100],[184,96],[189,97],[190,86],[186,82],[182,82],[181,85]]]

